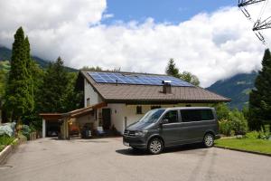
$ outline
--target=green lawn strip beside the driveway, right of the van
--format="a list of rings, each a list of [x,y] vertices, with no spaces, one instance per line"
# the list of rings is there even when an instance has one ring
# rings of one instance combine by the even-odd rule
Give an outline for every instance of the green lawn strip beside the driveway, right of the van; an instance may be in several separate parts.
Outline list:
[[[271,141],[257,138],[222,138],[215,146],[271,154]]]

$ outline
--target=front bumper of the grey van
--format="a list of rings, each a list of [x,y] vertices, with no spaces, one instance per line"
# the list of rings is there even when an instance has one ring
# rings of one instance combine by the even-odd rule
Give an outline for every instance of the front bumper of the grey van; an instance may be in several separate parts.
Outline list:
[[[141,148],[141,149],[147,148],[147,145],[145,143],[145,137],[123,136],[123,144],[127,147],[132,148]]]

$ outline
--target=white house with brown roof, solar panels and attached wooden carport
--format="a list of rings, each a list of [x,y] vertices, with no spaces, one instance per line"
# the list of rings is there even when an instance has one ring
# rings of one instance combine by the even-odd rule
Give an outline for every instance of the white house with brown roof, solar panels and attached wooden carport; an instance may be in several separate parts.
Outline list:
[[[46,122],[58,119],[62,120],[64,138],[69,138],[73,124],[82,128],[87,123],[91,129],[117,129],[122,134],[127,125],[142,118],[148,110],[211,106],[230,101],[186,81],[149,73],[80,71],[77,89],[84,92],[84,108],[64,114],[41,114],[43,132]]]

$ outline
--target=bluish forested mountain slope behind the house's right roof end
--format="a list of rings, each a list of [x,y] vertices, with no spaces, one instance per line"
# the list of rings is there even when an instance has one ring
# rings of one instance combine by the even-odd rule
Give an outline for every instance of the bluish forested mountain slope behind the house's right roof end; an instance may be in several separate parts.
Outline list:
[[[244,106],[248,106],[248,94],[254,88],[256,77],[256,71],[240,73],[227,80],[216,81],[207,90],[230,98],[229,107],[241,110]]]

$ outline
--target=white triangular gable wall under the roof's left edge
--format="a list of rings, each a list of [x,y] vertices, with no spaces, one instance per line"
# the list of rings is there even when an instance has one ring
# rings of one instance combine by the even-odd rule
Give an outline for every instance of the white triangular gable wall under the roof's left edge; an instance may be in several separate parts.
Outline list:
[[[84,79],[84,106],[87,107],[87,100],[90,99],[90,105],[102,102],[98,93],[92,88],[89,82]]]

